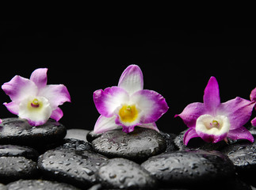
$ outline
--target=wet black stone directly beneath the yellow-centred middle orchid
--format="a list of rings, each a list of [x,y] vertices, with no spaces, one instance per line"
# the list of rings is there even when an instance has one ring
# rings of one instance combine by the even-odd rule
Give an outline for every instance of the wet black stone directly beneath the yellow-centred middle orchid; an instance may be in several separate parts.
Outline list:
[[[136,127],[125,133],[120,129],[107,131],[92,142],[94,151],[108,158],[145,161],[166,150],[166,141],[157,131]]]

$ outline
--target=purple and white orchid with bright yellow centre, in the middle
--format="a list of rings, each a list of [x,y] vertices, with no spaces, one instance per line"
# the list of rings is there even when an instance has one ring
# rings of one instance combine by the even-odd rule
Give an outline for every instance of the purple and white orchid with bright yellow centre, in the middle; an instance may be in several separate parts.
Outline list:
[[[94,126],[95,133],[119,126],[126,133],[133,131],[135,126],[159,131],[155,121],[168,110],[162,95],[143,89],[143,74],[136,65],[124,70],[118,86],[96,90],[94,104],[101,114]]]

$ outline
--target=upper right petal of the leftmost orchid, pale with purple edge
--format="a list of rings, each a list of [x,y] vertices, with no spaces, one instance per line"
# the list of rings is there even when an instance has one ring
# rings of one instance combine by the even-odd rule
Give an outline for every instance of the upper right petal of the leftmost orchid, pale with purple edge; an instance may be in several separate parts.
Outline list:
[[[71,102],[71,95],[67,91],[67,87],[63,85],[48,85],[40,89],[38,93],[40,97],[46,97],[54,110],[64,102]]]

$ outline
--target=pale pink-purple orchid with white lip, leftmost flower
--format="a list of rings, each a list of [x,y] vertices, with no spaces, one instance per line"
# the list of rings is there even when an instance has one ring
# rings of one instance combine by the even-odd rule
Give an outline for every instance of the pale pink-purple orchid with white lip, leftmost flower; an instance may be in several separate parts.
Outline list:
[[[47,71],[47,68],[36,69],[30,79],[16,75],[2,85],[11,99],[10,103],[4,103],[6,108],[32,126],[45,124],[50,117],[60,120],[63,111],[58,106],[71,101],[66,86],[47,85]]]

